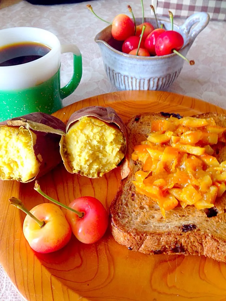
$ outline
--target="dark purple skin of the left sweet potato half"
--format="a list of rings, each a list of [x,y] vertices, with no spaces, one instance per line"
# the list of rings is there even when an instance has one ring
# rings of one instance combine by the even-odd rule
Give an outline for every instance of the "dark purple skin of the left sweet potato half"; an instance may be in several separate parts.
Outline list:
[[[62,135],[66,134],[66,125],[60,119],[37,112],[3,121],[0,126],[24,126],[36,135],[33,149],[40,168],[36,177],[27,182],[46,174],[62,161],[59,143]]]

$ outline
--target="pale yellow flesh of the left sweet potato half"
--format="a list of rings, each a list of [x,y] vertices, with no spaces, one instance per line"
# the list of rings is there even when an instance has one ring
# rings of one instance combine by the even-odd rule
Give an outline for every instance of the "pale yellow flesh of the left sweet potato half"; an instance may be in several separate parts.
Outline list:
[[[26,182],[37,175],[39,166],[30,132],[24,127],[0,127],[0,178]]]

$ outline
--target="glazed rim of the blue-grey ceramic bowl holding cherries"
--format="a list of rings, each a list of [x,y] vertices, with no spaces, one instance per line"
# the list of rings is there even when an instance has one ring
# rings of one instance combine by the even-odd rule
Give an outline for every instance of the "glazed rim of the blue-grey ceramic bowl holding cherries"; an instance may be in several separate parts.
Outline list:
[[[148,19],[155,20],[154,18],[148,18]],[[171,24],[170,22],[165,21],[163,19],[158,19],[158,20],[159,21],[163,21],[164,23]],[[174,25],[178,27],[178,25],[176,25],[176,24],[174,24]],[[110,50],[114,51],[115,53],[117,53],[119,55],[123,55],[125,57],[136,58],[137,60],[147,60],[147,61],[150,61],[150,60],[162,60],[162,59],[167,59],[168,57],[173,57],[173,56],[177,55],[176,53],[170,53],[170,54],[161,55],[161,56],[140,56],[140,55],[127,54],[127,53],[124,53],[122,51],[116,50],[115,48],[113,48],[112,46],[110,46],[107,42],[105,42],[103,40],[98,40],[97,39],[97,36],[99,34],[101,34],[104,30],[106,30],[107,28],[110,28],[110,26],[112,26],[112,25],[108,25],[107,27],[105,27],[104,29],[102,29],[98,34],[96,34],[96,36],[94,38],[94,42],[96,42],[96,43],[97,42],[103,42]],[[189,44],[190,44],[190,42],[188,42],[186,45],[184,45],[180,50],[184,50]]]

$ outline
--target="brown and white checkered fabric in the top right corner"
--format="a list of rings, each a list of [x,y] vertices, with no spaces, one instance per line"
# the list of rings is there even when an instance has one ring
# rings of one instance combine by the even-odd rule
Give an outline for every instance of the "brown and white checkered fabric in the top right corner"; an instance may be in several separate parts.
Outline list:
[[[210,19],[226,21],[226,0],[152,0],[159,16],[187,18],[193,13],[207,12]]]

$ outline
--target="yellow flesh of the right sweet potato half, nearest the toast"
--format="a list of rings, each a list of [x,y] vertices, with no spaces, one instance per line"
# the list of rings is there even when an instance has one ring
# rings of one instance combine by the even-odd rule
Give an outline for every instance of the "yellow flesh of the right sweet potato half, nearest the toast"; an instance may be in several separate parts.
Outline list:
[[[74,173],[102,177],[124,157],[126,141],[120,129],[94,117],[82,117],[68,130],[64,150]]]

